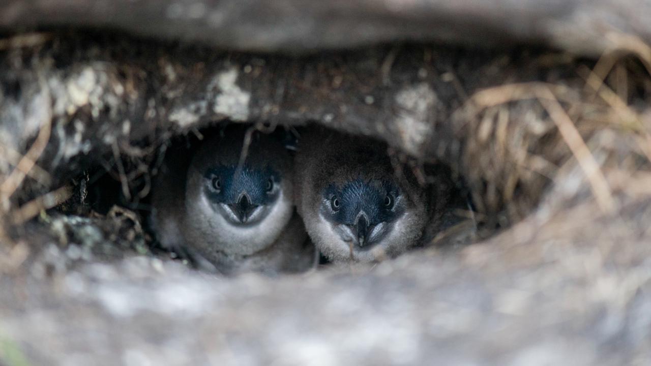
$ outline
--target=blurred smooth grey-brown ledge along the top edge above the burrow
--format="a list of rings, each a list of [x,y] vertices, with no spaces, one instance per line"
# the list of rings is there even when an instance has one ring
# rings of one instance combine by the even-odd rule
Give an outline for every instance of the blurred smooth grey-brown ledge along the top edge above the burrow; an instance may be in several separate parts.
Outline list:
[[[240,51],[313,52],[378,42],[547,44],[599,55],[651,41],[647,0],[8,0],[0,29],[102,27]]]

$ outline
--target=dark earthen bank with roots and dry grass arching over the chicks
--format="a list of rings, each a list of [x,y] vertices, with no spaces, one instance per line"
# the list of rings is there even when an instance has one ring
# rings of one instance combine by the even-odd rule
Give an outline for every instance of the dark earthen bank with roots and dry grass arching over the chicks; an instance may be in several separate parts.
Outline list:
[[[424,184],[428,171],[445,171],[462,201],[448,208],[470,220],[469,242],[541,203],[542,218],[591,198],[612,212],[624,180],[611,173],[648,165],[639,141],[650,84],[635,57],[411,45],[296,58],[70,39],[7,51],[1,81],[3,143],[33,148],[41,167],[5,202],[10,234],[91,248],[72,249],[75,259],[97,246],[107,258],[169,256],[152,245],[152,177],[167,150],[191,155],[228,120],[294,138],[320,125],[385,141]]]

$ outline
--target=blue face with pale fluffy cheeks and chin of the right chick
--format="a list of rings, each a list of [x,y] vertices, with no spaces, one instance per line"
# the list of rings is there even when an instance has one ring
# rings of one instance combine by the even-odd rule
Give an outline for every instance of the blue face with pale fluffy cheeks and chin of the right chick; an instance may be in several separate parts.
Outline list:
[[[315,244],[335,262],[400,255],[417,244],[426,218],[424,204],[404,188],[389,176],[327,185],[318,208],[321,223],[312,231]]]

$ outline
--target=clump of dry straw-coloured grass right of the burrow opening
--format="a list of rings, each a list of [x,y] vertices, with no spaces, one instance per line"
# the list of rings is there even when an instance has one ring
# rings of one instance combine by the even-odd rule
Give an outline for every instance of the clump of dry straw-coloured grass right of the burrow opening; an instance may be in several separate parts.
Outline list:
[[[567,209],[585,188],[598,207],[590,216],[612,216],[622,197],[648,192],[651,136],[641,106],[651,96],[651,48],[631,36],[609,39],[613,49],[594,68],[575,66],[576,80],[490,87],[454,113],[465,141],[460,171],[482,219],[514,223],[540,200]]]

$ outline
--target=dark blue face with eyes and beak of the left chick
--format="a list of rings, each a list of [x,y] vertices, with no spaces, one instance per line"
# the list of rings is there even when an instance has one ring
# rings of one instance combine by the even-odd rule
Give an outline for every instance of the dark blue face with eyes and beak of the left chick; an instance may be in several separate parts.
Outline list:
[[[256,225],[280,195],[281,176],[271,167],[216,165],[204,173],[204,195],[232,225]]]

